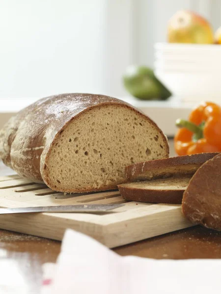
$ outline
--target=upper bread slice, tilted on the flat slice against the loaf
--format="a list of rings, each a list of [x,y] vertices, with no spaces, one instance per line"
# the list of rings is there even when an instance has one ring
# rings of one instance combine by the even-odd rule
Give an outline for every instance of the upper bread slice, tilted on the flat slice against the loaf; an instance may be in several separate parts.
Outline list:
[[[204,162],[217,154],[219,152],[208,152],[139,162],[127,166],[125,174],[131,182],[169,177],[174,174],[193,174]]]

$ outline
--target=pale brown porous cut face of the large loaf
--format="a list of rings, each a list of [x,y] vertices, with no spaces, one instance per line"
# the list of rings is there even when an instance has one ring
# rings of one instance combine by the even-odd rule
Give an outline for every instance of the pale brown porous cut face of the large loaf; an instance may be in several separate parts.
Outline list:
[[[57,191],[116,188],[127,165],[165,158],[167,142],[150,120],[128,107],[103,105],[81,113],[56,136],[45,178]]]

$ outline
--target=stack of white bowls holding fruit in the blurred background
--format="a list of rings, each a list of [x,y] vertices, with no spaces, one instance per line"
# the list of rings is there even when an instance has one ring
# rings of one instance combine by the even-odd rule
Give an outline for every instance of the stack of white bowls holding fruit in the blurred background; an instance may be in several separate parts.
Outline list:
[[[221,103],[221,45],[157,43],[154,65],[174,96]]]

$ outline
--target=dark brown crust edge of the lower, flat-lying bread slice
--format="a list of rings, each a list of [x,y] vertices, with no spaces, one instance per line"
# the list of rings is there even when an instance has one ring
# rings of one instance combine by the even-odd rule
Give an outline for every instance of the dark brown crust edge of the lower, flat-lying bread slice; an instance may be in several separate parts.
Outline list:
[[[169,203],[181,204],[185,189],[182,190],[145,190],[139,188],[127,188],[118,185],[121,196],[126,200],[150,202],[150,203]]]

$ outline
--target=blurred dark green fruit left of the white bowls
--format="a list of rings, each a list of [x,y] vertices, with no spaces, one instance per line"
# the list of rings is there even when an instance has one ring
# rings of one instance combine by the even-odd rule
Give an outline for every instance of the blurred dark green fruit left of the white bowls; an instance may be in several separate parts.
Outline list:
[[[171,96],[153,70],[145,66],[129,66],[123,75],[123,82],[127,91],[138,99],[166,100]]]

